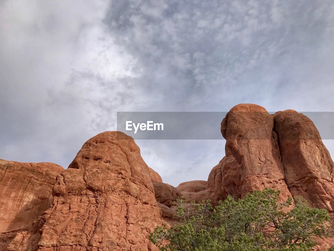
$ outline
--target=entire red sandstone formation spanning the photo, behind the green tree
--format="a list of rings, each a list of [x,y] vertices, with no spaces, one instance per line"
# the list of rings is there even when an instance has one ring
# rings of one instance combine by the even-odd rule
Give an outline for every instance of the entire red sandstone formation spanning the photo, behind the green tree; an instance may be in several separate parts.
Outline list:
[[[309,118],[239,104],[221,133],[225,156],[208,180],[178,187],[163,183],[120,132],[88,140],[66,170],[0,160],[0,251],[156,251],[148,236],[175,224],[178,197],[216,203],[266,187],[280,189],[282,200],[302,195],[334,217],[334,164]]]

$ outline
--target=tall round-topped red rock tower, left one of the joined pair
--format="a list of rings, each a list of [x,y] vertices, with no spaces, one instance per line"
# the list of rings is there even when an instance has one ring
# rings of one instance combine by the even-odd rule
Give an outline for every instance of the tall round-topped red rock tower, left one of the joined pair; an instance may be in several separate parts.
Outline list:
[[[208,178],[217,199],[228,194],[242,197],[265,187],[281,190],[283,200],[292,196],[273,127],[273,117],[259,105],[239,104],[226,114],[221,122],[226,156]]]

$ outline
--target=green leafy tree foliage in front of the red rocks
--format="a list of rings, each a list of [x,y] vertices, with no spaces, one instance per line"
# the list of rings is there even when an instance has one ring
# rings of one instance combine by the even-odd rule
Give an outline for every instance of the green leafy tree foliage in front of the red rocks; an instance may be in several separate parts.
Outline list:
[[[176,201],[181,223],[157,227],[150,240],[161,251],[308,251],[314,237],[327,237],[329,217],[310,208],[302,197],[278,203],[280,191],[265,189],[234,200],[228,196],[212,207],[209,200]],[[284,208],[291,207],[288,213]],[[329,251],[334,251],[330,248]]]

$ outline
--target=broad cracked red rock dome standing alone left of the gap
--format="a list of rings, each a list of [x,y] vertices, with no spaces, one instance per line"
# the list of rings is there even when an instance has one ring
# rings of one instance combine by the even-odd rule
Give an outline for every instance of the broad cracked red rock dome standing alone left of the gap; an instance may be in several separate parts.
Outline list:
[[[39,251],[156,250],[148,236],[161,224],[159,208],[131,137],[105,132],[88,140],[57,176],[53,195]]]

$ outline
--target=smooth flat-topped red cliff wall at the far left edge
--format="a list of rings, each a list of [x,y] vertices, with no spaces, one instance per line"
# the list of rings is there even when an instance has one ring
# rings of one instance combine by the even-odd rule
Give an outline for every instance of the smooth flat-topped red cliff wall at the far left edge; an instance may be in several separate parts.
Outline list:
[[[0,160],[0,250],[7,250],[15,236],[27,235],[34,221],[38,224],[52,203],[52,187],[63,170],[54,163]]]

